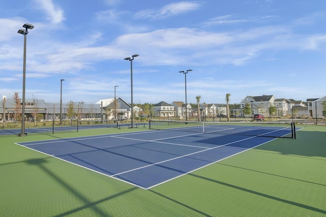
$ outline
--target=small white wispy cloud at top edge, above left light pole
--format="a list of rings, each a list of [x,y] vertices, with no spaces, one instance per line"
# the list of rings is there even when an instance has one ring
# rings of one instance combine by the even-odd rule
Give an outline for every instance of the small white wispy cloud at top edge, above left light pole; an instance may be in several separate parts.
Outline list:
[[[65,20],[63,10],[59,6],[53,4],[52,0],[34,1],[39,4],[40,9],[44,11],[44,13],[47,15],[47,18],[52,23],[61,23],[63,20]]]

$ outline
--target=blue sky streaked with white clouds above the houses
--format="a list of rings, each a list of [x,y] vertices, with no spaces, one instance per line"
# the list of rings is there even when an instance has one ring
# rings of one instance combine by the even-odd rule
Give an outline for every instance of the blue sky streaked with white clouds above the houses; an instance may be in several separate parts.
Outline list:
[[[2,0],[0,95],[95,103],[239,103],[247,95],[326,95],[324,0]]]

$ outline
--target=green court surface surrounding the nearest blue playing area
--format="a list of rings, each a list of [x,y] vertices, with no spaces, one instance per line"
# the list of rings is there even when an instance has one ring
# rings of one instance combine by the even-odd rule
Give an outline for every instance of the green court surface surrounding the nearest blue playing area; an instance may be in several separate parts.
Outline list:
[[[0,136],[1,216],[325,216],[326,126],[276,139],[149,190],[16,145],[145,130]]]

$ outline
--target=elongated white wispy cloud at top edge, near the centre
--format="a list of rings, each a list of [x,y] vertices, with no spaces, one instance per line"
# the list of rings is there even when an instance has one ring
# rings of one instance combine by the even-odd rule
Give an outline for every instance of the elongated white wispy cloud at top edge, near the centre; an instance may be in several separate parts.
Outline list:
[[[196,10],[200,2],[177,2],[166,5],[159,10],[143,10],[136,14],[136,17],[143,19],[162,19],[178,14]]]

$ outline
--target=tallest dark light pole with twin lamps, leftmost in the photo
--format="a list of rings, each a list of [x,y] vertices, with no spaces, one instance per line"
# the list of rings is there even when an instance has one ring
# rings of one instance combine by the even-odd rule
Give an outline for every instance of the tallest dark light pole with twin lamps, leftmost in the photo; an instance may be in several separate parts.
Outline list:
[[[22,110],[21,110],[21,133],[20,136],[24,137],[25,134],[25,79],[26,79],[26,38],[28,29],[32,30],[34,25],[25,23],[22,25],[25,29],[18,30],[19,34],[24,35],[24,57],[23,57],[23,70],[22,70]]]

